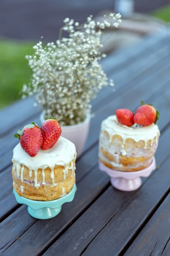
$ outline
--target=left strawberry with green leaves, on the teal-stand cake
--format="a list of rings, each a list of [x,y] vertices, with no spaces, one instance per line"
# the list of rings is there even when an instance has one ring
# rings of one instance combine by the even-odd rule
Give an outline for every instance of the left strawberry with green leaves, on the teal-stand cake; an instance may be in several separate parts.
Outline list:
[[[31,157],[38,154],[43,142],[42,131],[35,123],[24,126],[22,130],[18,130],[14,137],[20,139],[22,148]]]

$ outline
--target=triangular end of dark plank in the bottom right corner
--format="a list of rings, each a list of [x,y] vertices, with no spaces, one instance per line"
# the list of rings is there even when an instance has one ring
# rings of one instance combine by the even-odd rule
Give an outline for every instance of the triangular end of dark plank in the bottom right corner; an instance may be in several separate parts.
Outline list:
[[[124,256],[170,254],[170,194],[150,218]]]

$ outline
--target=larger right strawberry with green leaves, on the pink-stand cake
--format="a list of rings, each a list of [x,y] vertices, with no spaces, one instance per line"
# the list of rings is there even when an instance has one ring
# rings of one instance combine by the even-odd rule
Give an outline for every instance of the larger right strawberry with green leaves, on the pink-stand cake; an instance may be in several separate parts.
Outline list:
[[[135,116],[133,118],[136,124],[141,126],[149,126],[153,123],[156,124],[157,119],[159,119],[159,112],[151,104],[146,104],[141,101],[141,106],[137,108]]]

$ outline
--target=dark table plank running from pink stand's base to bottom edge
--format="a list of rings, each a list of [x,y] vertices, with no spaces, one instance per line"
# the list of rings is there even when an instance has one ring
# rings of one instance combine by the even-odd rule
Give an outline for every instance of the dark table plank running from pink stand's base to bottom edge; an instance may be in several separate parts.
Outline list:
[[[43,255],[55,255],[56,252],[64,256],[81,255],[84,248],[107,225],[108,220],[113,218],[132,193],[124,193],[110,186]],[[109,203],[107,198],[110,198]],[[98,254],[89,252],[88,255]]]

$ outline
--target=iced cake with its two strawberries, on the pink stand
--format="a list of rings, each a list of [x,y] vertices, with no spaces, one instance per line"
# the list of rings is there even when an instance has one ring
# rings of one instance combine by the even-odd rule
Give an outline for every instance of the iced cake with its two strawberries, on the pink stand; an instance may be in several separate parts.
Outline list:
[[[155,155],[160,136],[157,110],[141,102],[135,114],[118,109],[102,121],[99,135],[99,161],[116,171],[140,171]]]

